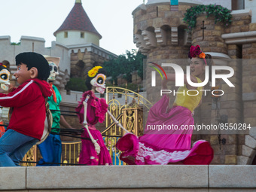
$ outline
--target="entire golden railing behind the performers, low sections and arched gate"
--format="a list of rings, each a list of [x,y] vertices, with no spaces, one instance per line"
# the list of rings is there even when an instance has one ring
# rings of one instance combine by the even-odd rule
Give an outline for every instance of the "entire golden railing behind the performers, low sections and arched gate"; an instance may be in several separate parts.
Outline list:
[[[120,99],[120,96],[122,99]],[[152,105],[148,99],[126,88],[107,87],[106,102],[108,103],[108,110],[126,130],[134,133],[136,136],[142,136],[143,115],[145,114],[143,111],[148,111]],[[102,131],[102,136],[111,155],[113,165],[123,165],[123,162],[119,159],[120,151],[115,148],[115,145],[118,139],[123,136],[124,131],[114,123],[114,120],[108,114],[105,117],[105,126],[107,128]],[[36,160],[35,151],[36,146],[29,150],[23,160]],[[81,142],[62,142],[61,162],[78,164],[80,151]],[[35,164],[26,163],[23,166],[35,166]]]

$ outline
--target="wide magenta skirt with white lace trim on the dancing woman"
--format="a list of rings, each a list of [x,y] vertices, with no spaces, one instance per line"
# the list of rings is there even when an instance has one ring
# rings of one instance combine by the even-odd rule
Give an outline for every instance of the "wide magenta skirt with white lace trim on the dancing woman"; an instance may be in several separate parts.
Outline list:
[[[168,110],[168,104],[169,97],[163,96],[150,109],[145,135],[138,138],[128,133],[118,140],[120,160],[131,165],[211,163],[214,153],[209,142],[200,140],[191,147],[191,125],[194,125],[191,111],[181,106]]]

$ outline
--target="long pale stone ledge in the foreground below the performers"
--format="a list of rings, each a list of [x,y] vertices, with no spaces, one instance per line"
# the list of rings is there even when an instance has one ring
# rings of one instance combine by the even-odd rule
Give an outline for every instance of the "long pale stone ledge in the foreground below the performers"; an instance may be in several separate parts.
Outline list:
[[[1,167],[0,190],[253,191],[256,166]]]

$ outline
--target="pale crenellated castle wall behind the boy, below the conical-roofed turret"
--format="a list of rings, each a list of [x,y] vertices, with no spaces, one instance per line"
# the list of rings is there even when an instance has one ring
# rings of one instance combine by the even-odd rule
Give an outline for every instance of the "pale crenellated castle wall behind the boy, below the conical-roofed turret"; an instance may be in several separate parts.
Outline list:
[[[110,56],[116,57],[108,50],[104,50],[96,44],[74,44],[66,46],[57,41],[52,41],[51,47],[44,47],[44,38],[21,36],[20,44],[11,44],[10,36],[0,36],[0,61],[8,60],[10,62],[11,74],[16,72],[15,56],[23,52],[37,52],[42,55],[59,56],[59,75],[53,84],[64,90],[72,74],[74,77],[85,77],[86,72],[93,65],[101,66]],[[14,76],[12,80],[16,84]]]

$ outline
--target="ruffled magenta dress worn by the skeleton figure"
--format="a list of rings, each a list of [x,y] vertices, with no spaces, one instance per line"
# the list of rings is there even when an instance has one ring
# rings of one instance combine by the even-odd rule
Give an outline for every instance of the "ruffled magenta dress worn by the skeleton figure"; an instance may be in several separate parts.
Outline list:
[[[83,93],[81,102],[78,102],[79,105],[75,110],[78,112],[80,123],[83,123],[83,101],[88,94],[90,95],[90,99],[87,102],[87,123],[93,139],[96,139],[100,146],[100,153],[99,155],[97,155],[93,142],[91,142],[90,140],[82,139],[82,148],[79,157],[79,164],[87,164],[91,166],[111,165],[111,157],[102,139],[102,134],[99,132],[99,130],[96,130],[95,127],[96,123],[102,123],[105,120],[105,113],[108,111],[108,105],[105,102],[105,99],[97,98],[94,93],[89,90]],[[85,138],[90,138],[87,130],[84,130],[81,136]]]

